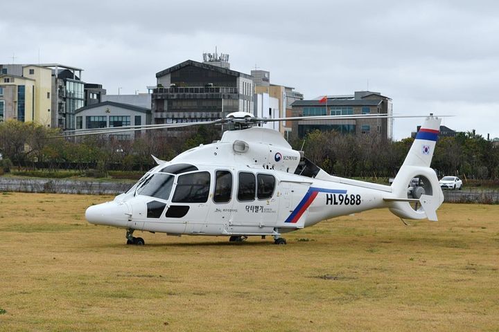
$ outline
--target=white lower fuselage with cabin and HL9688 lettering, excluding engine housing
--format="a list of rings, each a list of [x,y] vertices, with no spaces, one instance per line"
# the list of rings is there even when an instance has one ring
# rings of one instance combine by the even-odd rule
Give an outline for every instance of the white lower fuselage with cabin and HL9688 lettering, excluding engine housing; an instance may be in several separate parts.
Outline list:
[[[168,163],[114,201],[89,208],[87,220],[169,234],[248,236],[385,206],[383,192],[355,185],[272,169]]]

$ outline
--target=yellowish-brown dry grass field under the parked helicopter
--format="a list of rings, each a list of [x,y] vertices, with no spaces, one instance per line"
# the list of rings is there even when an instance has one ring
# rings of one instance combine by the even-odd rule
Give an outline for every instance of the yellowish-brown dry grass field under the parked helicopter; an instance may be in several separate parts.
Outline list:
[[[109,199],[0,193],[0,331],[499,331],[499,205],[137,247],[85,221]]]

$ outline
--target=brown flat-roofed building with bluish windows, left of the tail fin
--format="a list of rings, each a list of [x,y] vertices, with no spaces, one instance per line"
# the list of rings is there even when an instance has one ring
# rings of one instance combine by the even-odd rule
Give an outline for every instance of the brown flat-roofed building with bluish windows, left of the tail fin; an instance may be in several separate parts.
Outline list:
[[[353,114],[392,115],[392,99],[378,92],[356,91],[353,95],[327,96],[326,102],[297,100],[292,103],[292,116],[326,116]],[[313,130],[339,131],[351,134],[376,134],[392,139],[391,119],[312,120],[292,122],[292,137],[303,138]]]

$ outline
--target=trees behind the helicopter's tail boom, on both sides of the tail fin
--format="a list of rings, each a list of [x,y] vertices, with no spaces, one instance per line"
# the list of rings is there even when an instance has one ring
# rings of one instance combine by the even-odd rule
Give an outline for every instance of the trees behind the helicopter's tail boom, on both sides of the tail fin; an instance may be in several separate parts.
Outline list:
[[[292,146],[303,146],[307,158],[329,174],[378,178],[396,175],[412,142],[414,138],[389,141],[376,135],[313,131]],[[473,132],[439,138],[431,167],[439,176],[495,180],[499,177],[499,144]]]

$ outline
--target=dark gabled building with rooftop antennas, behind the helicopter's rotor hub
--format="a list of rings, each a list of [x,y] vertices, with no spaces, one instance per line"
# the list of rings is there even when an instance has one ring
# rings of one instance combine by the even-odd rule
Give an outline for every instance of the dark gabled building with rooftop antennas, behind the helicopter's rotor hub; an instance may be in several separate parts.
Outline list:
[[[213,64],[225,63],[225,59],[214,59],[217,61]],[[151,100],[152,122],[207,121],[236,111],[253,113],[252,77],[225,68],[228,64],[213,64],[187,60],[157,73],[157,88]]]

